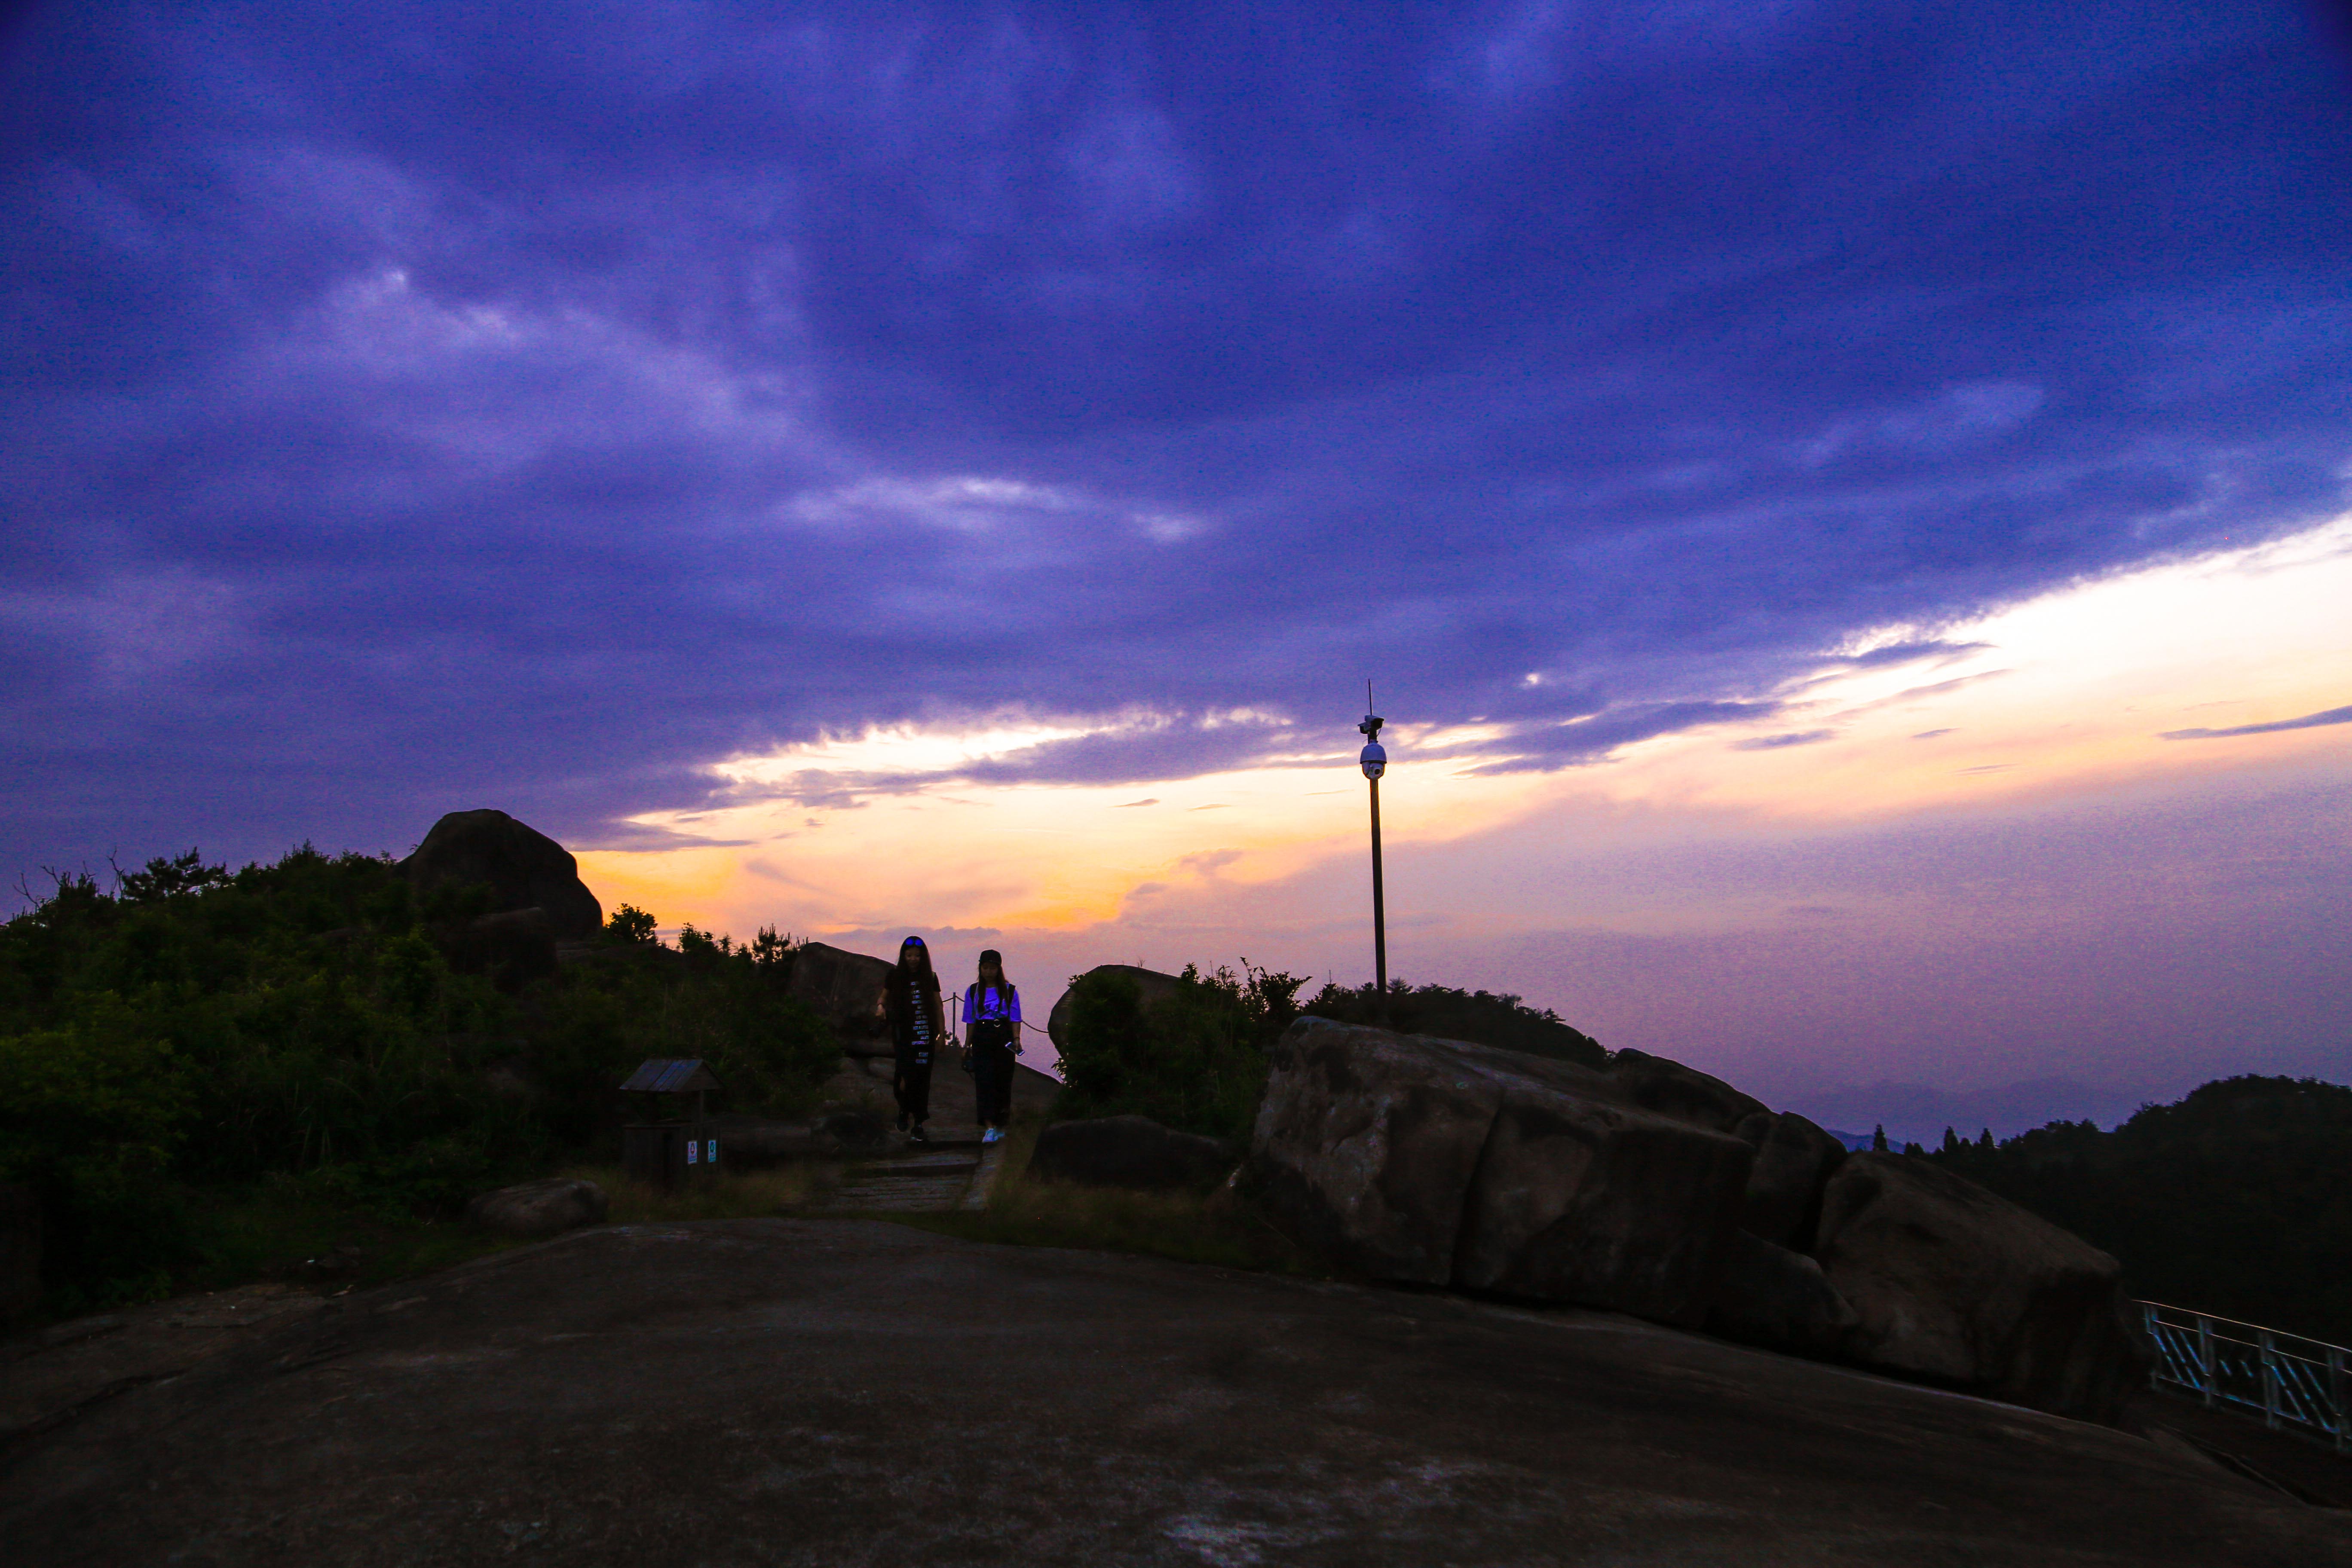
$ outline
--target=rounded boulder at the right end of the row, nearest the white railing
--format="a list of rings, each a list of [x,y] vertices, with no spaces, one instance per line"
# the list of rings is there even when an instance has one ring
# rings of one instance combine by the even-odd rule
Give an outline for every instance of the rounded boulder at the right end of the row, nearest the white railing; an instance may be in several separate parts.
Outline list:
[[[1813,1255],[1865,1366],[2084,1420],[2136,1375],[2114,1258],[1933,1161],[1849,1157]]]

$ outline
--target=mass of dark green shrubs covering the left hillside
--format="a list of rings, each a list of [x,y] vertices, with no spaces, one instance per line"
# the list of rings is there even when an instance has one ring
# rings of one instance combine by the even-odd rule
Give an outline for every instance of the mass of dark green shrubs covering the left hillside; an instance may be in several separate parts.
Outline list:
[[[56,877],[0,922],[0,1178],[42,1192],[54,1302],[209,1276],[191,1199],[214,1213],[275,1178],[383,1222],[454,1215],[612,1145],[647,1056],[708,1058],[722,1103],[767,1112],[807,1107],[837,1060],[774,931],[673,952],[623,907],[609,950],[557,969],[543,936],[477,926],[489,903],[303,844],[238,872],[148,860],[113,896]],[[529,1093],[494,1093],[492,1067]]]

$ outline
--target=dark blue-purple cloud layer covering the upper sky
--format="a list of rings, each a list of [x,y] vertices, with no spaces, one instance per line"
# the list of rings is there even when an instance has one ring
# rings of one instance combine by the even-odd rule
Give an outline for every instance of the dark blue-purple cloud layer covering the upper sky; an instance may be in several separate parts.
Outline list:
[[[2291,5],[12,38],[16,863],[586,837],[870,722],[1150,715],[997,764],[1148,783],[1336,748],[1367,675],[1566,766],[2345,501]]]

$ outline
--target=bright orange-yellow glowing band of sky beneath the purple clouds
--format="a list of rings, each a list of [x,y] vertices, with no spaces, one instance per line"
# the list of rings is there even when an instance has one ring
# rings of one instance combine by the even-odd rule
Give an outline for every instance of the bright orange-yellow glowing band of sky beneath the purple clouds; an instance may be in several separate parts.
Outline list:
[[[1661,736],[1557,773],[1477,776],[1477,759],[1416,764],[1416,750],[1486,731],[1392,724],[1383,827],[1399,851],[1503,835],[1541,858],[1545,844],[1569,839],[1788,832],[2216,773],[2340,769],[2352,755],[2347,724],[2164,736],[2352,703],[2347,607],[2352,520],[2338,520],[2272,545],[2086,581],[1959,625],[1875,628],[1773,693],[1785,708],[1766,722]],[[1959,651],[1851,663],[1922,637]],[[741,804],[637,818],[717,844],[588,851],[581,872],[607,907],[635,903],[663,924],[1070,933],[1115,931],[1138,898],[1162,893],[1183,893],[1214,922],[1218,905],[1249,889],[1362,849],[1364,783],[1338,722],[1327,757],[1232,773],[1115,788],[934,783],[1082,733],[875,731],[739,757],[713,773]],[[816,804],[781,799],[790,792]],[[1470,882],[1425,893],[1465,919],[1494,917],[1491,891]],[[1616,907],[1644,924],[1630,903]],[[1545,910],[1522,914],[1548,919]]]

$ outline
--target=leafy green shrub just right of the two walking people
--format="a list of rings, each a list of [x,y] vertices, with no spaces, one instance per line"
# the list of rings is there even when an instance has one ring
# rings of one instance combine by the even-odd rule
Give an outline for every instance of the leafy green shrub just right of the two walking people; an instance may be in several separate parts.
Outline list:
[[[1058,1117],[1134,1112],[1162,1126],[1242,1140],[1265,1093],[1275,1037],[1298,1016],[1301,976],[1185,964],[1176,990],[1145,1006],[1122,973],[1070,980]]]

